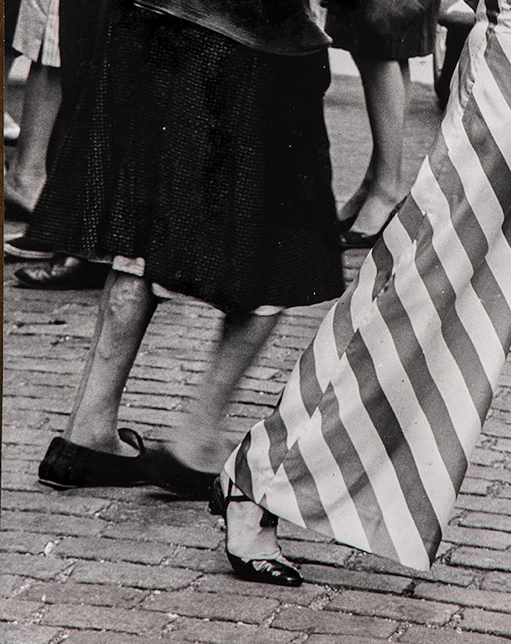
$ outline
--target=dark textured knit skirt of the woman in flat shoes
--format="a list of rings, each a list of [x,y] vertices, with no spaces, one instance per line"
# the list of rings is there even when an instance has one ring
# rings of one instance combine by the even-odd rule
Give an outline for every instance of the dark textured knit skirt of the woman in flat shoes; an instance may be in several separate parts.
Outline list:
[[[339,296],[327,52],[256,52],[118,2],[103,23],[30,235],[142,258],[224,311]]]

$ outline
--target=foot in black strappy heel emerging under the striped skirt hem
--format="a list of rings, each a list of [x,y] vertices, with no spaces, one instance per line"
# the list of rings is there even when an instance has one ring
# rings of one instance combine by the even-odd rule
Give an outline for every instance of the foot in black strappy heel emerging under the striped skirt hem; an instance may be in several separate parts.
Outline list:
[[[225,516],[225,549],[234,573],[250,582],[299,586],[303,577],[284,558],[277,542],[277,517],[246,497],[225,472],[217,478],[214,489],[216,508],[221,508]],[[212,511],[214,506],[210,506]]]

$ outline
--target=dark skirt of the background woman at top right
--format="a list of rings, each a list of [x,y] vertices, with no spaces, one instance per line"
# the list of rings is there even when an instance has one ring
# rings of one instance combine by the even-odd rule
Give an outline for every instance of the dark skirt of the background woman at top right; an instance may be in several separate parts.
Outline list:
[[[349,3],[353,5],[353,3]],[[367,32],[360,13],[339,3],[328,10],[325,30],[332,46],[355,56],[380,61],[400,61],[433,51],[440,0],[422,0],[425,12],[402,33],[386,38]]]

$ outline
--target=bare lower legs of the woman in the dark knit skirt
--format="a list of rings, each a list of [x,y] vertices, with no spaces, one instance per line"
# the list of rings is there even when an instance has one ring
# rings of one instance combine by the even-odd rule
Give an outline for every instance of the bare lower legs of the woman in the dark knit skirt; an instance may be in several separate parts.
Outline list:
[[[100,451],[127,454],[116,428],[120,399],[145,330],[156,307],[143,278],[112,271],[98,312],[95,334],[65,437]],[[212,363],[192,404],[189,439],[172,444],[172,454],[192,469],[219,472],[232,445],[219,439],[232,392],[279,314],[227,316]]]

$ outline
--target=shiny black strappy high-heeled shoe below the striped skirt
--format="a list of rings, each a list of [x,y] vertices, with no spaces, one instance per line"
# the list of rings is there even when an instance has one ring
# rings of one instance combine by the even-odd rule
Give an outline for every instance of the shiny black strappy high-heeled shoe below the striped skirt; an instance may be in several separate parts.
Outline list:
[[[221,515],[227,524],[227,506],[231,501],[243,502],[250,501],[251,498],[246,495],[231,495],[232,481],[229,481],[227,497],[223,493],[220,477],[216,478],[213,484],[213,494],[209,502],[209,511],[213,515]],[[277,526],[277,516],[272,515],[267,510],[263,511],[261,518],[261,527]],[[248,582],[274,583],[280,586],[299,586],[303,582],[303,577],[299,571],[290,565],[284,558],[278,559],[249,559],[245,560],[232,554],[227,549],[227,539],[225,545],[227,558],[236,576],[245,579]]]

